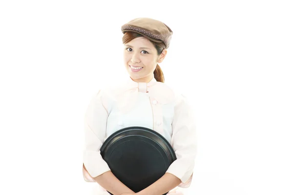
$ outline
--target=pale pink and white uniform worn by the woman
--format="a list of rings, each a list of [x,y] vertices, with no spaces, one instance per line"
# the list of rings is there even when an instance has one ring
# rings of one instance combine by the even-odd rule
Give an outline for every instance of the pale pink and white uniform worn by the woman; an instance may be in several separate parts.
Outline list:
[[[132,126],[152,129],[171,144],[177,159],[167,172],[182,183],[168,195],[183,195],[190,186],[196,156],[195,122],[188,99],[154,75],[149,82],[130,77],[119,84],[100,89],[91,99],[84,117],[84,167],[87,182],[110,171],[100,154],[105,139],[116,131]],[[96,183],[95,195],[109,195]],[[181,188],[179,188],[181,187]]]

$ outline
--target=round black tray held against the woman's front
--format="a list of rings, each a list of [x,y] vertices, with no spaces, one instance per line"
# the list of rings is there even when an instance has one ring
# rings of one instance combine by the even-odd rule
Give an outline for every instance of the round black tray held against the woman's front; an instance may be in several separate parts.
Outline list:
[[[164,176],[177,159],[165,137],[137,126],[116,131],[100,150],[113,175],[135,193]]]

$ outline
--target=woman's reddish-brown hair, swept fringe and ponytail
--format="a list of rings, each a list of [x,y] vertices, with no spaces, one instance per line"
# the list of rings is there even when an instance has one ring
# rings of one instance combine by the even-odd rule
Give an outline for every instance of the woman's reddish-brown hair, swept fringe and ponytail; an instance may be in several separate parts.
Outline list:
[[[138,38],[138,37],[144,37],[138,33],[135,32],[125,32],[123,38],[122,38],[122,42],[123,44],[126,44],[128,42],[130,42],[131,40]],[[163,42],[154,42],[152,40],[149,39],[149,41],[155,46],[155,48],[157,49],[157,54],[158,56],[162,54],[163,50],[166,49],[165,44]],[[157,64],[156,69],[154,71],[154,76],[155,79],[159,82],[164,82],[164,74],[163,71],[161,69],[161,67],[159,66],[159,64]]]

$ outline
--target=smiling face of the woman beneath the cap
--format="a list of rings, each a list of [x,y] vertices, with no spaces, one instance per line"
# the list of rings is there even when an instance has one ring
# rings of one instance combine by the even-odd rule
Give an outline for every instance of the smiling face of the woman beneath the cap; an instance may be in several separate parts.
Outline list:
[[[145,37],[139,37],[125,44],[124,64],[132,80],[149,82],[153,77],[157,63],[162,62],[166,54],[167,50],[158,56],[154,45]],[[134,70],[131,66],[141,68]]]

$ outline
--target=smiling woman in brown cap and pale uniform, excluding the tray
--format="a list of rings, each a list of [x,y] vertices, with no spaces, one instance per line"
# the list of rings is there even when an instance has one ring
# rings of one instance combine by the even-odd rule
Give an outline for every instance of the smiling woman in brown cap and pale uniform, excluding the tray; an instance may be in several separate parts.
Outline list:
[[[121,30],[129,78],[99,90],[86,110],[84,179],[99,184],[97,195],[107,195],[106,191],[113,195],[135,194],[112,174],[100,148],[116,131],[142,126],[164,136],[177,159],[164,176],[136,194],[163,195],[169,191],[168,195],[182,195],[179,187],[188,188],[192,180],[196,137],[187,99],[164,83],[158,65],[167,55],[173,32],[165,23],[150,18],[131,20]]]

